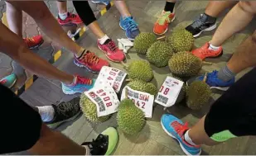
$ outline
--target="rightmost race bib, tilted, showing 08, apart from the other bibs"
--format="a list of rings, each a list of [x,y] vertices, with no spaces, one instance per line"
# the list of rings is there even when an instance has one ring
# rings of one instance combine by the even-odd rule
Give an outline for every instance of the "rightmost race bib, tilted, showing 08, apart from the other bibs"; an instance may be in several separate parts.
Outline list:
[[[162,106],[174,105],[181,92],[182,86],[182,81],[176,78],[167,77],[159,89],[155,102]]]

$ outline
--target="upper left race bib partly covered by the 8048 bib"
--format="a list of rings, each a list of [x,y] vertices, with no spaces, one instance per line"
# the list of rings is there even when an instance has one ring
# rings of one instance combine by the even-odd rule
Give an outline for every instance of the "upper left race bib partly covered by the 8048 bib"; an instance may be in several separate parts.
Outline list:
[[[118,93],[126,76],[127,73],[124,73],[122,70],[104,66],[100,70],[99,76],[94,85],[100,86],[103,83],[109,83],[110,86],[114,88],[114,91]]]

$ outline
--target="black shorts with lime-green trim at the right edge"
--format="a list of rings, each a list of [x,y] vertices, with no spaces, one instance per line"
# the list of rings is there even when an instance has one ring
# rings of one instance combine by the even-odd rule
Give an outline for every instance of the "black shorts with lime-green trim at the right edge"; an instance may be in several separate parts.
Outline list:
[[[205,116],[209,137],[225,130],[235,136],[256,135],[256,69],[229,87]]]

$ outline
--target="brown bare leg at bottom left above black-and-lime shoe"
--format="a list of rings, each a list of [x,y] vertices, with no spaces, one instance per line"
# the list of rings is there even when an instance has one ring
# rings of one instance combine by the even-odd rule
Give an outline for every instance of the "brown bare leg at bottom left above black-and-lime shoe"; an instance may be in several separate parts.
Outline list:
[[[42,124],[41,137],[28,152],[34,155],[85,155],[86,149]]]

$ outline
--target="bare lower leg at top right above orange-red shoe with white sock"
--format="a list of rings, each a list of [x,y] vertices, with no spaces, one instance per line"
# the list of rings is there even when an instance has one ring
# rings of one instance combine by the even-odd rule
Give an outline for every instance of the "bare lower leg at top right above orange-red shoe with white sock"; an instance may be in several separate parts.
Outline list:
[[[220,23],[217,31],[215,31],[215,35],[210,40],[210,44],[220,46],[234,33],[243,30],[252,21],[256,12],[255,7],[256,2],[240,1],[236,4]]]

